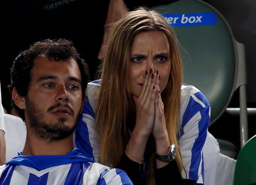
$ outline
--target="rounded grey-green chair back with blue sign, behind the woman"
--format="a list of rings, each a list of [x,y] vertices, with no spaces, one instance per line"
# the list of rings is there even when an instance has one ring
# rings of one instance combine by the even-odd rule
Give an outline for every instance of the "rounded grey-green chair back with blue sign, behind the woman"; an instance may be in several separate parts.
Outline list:
[[[229,104],[236,82],[236,46],[221,14],[200,0],[152,7],[173,26],[180,47],[184,83],[202,91],[211,104],[211,124]]]

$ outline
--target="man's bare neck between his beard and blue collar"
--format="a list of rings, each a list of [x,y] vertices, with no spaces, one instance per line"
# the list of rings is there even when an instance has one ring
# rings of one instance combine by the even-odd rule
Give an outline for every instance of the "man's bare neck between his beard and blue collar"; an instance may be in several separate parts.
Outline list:
[[[65,139],[47,142],[35,134],[27,133],[23,155],[66,155],[74,149],[72,134]]]

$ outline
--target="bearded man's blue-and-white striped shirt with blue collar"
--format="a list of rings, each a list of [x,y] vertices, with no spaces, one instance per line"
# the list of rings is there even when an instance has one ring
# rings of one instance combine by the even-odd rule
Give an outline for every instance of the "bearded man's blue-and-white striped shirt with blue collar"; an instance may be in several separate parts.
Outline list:
[[[0,185],[132,185],[126,173],[110,169],[75,148],[67,155],[24,156],[0,166]]]

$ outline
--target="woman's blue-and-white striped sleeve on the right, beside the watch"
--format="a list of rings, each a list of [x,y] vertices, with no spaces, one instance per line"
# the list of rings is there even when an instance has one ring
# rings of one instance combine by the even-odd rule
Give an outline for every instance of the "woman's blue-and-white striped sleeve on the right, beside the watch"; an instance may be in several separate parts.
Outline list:
[[[203,145],[210,122],[210,105],[206,97],[195,87],[182,88],[181,137],[179,147],[187,178],[203,184]],[[182,172],[186,178],[186,173]]]

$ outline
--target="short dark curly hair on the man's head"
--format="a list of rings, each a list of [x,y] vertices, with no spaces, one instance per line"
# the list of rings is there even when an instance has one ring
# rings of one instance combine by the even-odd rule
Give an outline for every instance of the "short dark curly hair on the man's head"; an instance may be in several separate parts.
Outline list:
[[[81,72],[81,85],[84,98],[87,83],[89,81],[88,65],[82,58],[80,58],[73,43],[65,39],[45,39],[34,43],[27,50],[20,52],[11,67],[11,83],[8,85],[11,93],[15,87],[18,94],[23,97],[27,96],[34,59],[40,56],[47,57],[49,60],[54,59],[55,61],[74,58]],[[18,113],[24,121],[24,111],[17,107],[13,101],[12,106],[15,107],[16,113]]]

